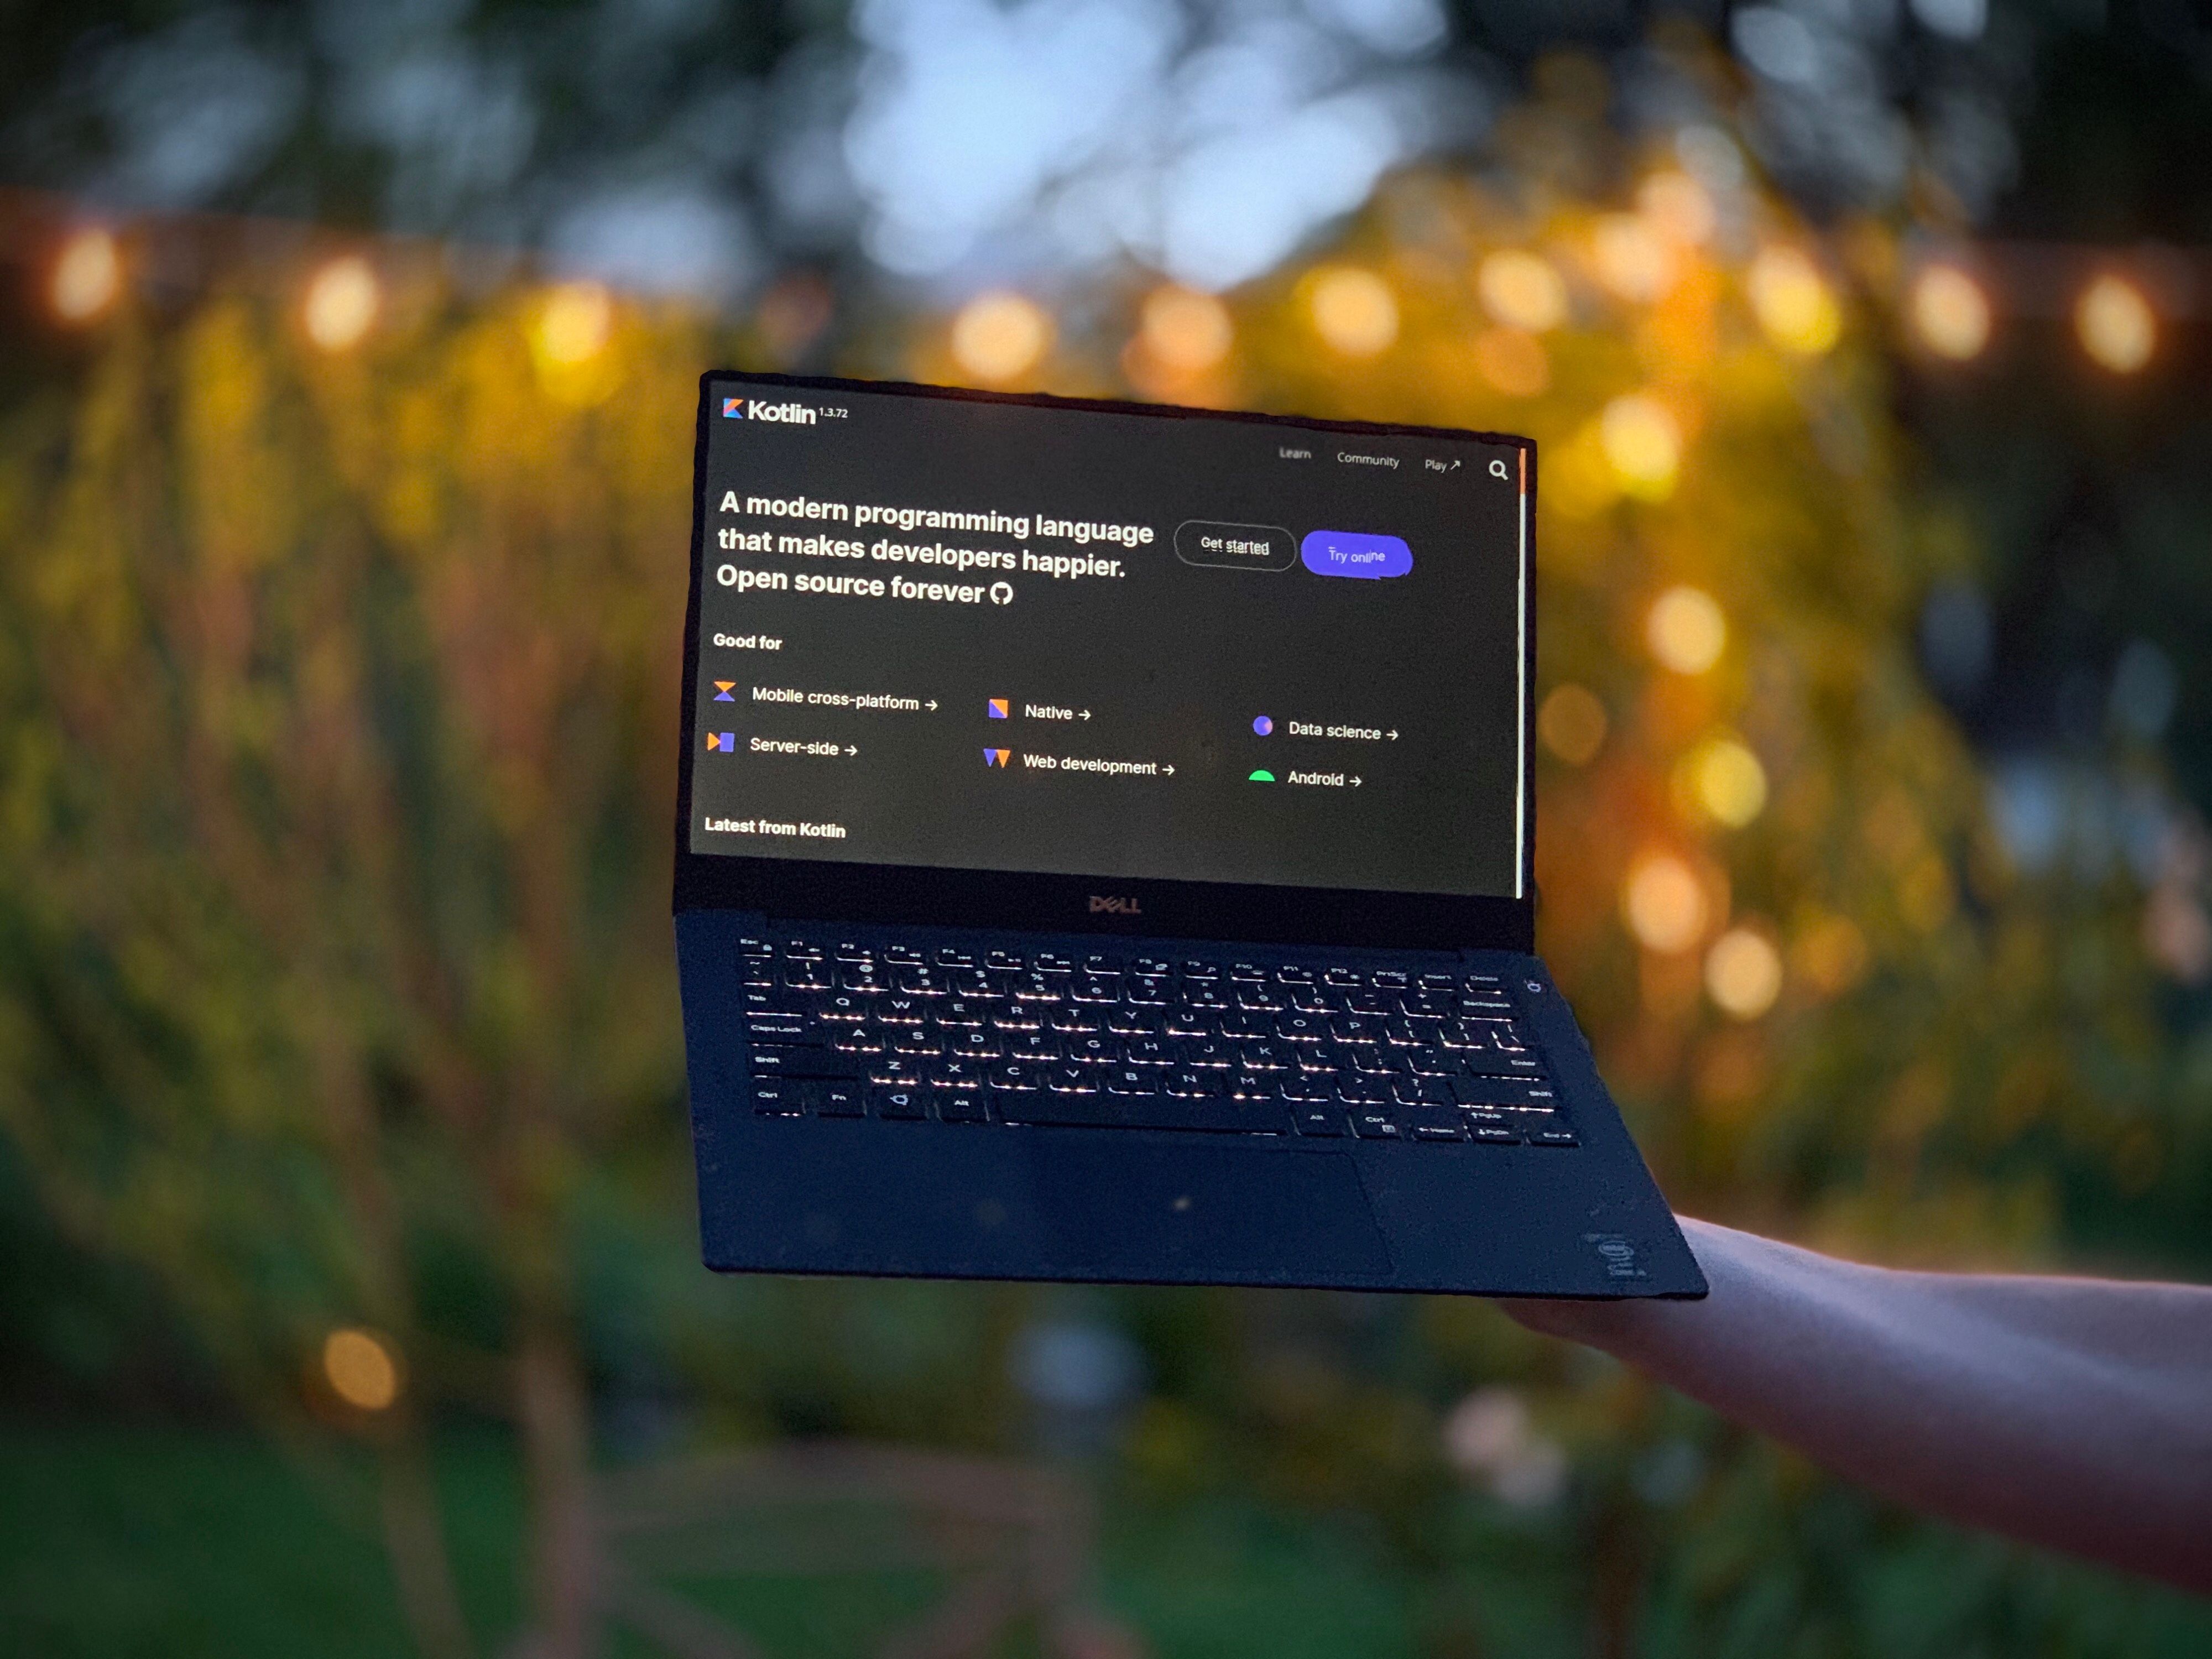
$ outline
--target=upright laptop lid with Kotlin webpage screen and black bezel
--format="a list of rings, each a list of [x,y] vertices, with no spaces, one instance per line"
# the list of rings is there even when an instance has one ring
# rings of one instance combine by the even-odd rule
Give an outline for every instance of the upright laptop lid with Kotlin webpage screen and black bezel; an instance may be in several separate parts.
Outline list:
[[[1533,947],[1528,438],[701,376],[675,905]]]

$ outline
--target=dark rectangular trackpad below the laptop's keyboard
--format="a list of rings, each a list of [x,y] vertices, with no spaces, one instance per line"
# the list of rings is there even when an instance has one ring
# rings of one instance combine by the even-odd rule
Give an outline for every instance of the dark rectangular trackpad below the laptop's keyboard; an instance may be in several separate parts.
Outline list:
[[[1343,1152],[1031,1135],[1046,1272],[1305,1283],[1391,1270]]]

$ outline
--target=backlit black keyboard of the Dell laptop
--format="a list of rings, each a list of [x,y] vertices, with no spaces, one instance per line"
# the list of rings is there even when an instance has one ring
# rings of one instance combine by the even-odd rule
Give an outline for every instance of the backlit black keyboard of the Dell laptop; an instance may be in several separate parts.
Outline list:
[[[1500,973],[739,942],[768,1117],[1575,1146]]]

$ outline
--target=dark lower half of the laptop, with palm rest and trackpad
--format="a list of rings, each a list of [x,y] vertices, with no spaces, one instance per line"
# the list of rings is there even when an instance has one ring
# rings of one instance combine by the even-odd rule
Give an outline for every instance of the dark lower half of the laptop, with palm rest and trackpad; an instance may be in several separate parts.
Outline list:
[[[1221,1084],[1225,1093],[1217,1093],[1212,1106],[1206,1099],[1183,1102],[1168,1093],[1166,1082],[1157,1095],[1119,1108],[1104,1086],[1093,1095],[1057,1097],[1055,1104],[1042,1084],[1035,1095],[995,1093],[995,1082],[1011,1079],[989,1073],[973,1091],[958,1086],[958,1077],[949,1086],[938,1073],[922,1073],[927,1082],[907,1097],[896,1086],[905,1073],[896,1071],[891,1053],[847,1060],[830,1046],[803,1051],[779,1042],[783,1031],[763,1018],[761,1006],[796,1006],[799,993],[781,984],[794,978],[790,969],[761,971],[763,962],[781,958],[757,953],[763,945],[787,951],[792,940],[818,942],[810,949],[821,951],[821,978],[830,984],[803,995],[821,1000],[841,995],[832,967],[838,945],[852,947],[854,958],[865,956],[869,973],[887,949],[925,962],[940,956],[984,962],[998,951],[1024,964],[1040,953],[1064,958],[1073,962],[1071,978],[1082,973],[1086,958],[1110,947],[1113,962],[1121,964],[1110,971],[1130,980],[1146,978],[1126,973],[1130,962],[1150,964],[1155,958],[1192,969],[1219,964],[1223,1000],[1232,1004],[1239,1000],[1237,980],[1228,978],[1232,967],[1263,973],[1267,984],[1283,971],[1307,969],[1318,975],[1334,971],[1347,984],[1367,984],[1378,973],[1391,982],[1407,975],[1413,987],[1407,995],[1418,995],[1420,975],[1438,987],[1447,980],[1506,980],[1515,1020],[1542,1053],[1553,1108],[1540,1104],[1544,1091],[1511,1077],[1500,1077],[1495,1088],[1478,1084],[1471,1093],[1462,1077],[1462,1104],[1431,1108],[1400,1082],[1398,1093],[1416,1104],[1378,1106],[1369,1115],[1398,1110],[1400,1121],[1427,1124],[1442,1113],[1444,1119],[1473,1124],[1491,1117],[1475,1097],[1495,1093],[1506,1106],[1500,1117],[1568,1124],[1571,1133],[1553,1130],[1551,1139],[1559,1144],[1542,1144],[1537,1130],[1526,1128],[1515,1130],[1511,1141],[1502,1130],[1495,1139],[1475,1139],[1469,1128],[1451,1139],[1444,1130],[1431,1139],[1352,1133],[1363,1128],[1356,1091],[1345,1091],[1354,1099],[1329,1106],[1272,1097],[1239,1104],[1234,1077],[1243,1073],[1228,1068],[1219,1073],[1219,1079],[1230,1079]],[[1486,1296],[1705,1294],[1697,1261],[1621,1126],[1573,1013],[1533,956],[807,927],[790,918],[770,925],[761,914],[728,909],[679,911],[677,953],[699,1152],[701,1248],[706,1263],[723,1272],[1310,1285]],[[748,978],[776,984],[754,989],[748,1006]],[[867,975],[847,962],[847,978]],[[1170,982],[1179,984],[1172,975]],[[894,973],[883,991],[856,995],[889,1000],[896,987]],[[1119,1002],[1108,1006],[1126,1006],[1130,995],[1135,991],[1121,991]],[[1256,995],[1243,1000],[1263,1002]],[[1287,1004],[1287,998],[1279,1000]],[[878,1004],[865,1006],[874,1011]],[[1011,998],[1006,1006],[1015,1006]],[[1272,1018],[1290,1020],[1292,1013]],[[1343,1018],[1356,1022],[1363,1015]],[[1130,1024],[1141,1026],[1141,1020]],[[1394,1031],[1405,1035],[1402,1026],[1396,1020]],[[768,1040],[759,1040],[757,1031]],[[1248,1048],[1254,1042],[1281,1048],[1274,1037],[1243,1042]],[[1389,1055],[1380,1033],[1376,1051]],[[803,1053],[814,1053],[814,1060],[794,1057]],[[1305,1051],[1294,1053],[1310,1060]],[[768,1055],[783,1055],[776,1064],[801,1073],[841,1073],[845,1082],[763,1073]],[[998,1071],[1009,1064],[991,1062]],[[949,1071],[958,1073],[958,1066]],[[1170,1075],[1168,1060],[1161,1060],[1159,1077]],[[1296,1075],[1296,1062],[1285,1075]],[[1449,1093],[1438,1097],[1451,1099]],[[1146,1126],[1192,1121],[1219,1130],[1232,1108],[1254,1113],[1252,1121],[1265,1128],[1208,1133]],[[887,1115],[898,1110],[920,1115]],[[1343,1117],[1345,1130],[1307,1135],[1298,1128],[1312,1121],[1318,1130],[1327,1110]],[[1095,1124],[1115,1126],[1086,1126],[1079,1121],[1086,1113]]]

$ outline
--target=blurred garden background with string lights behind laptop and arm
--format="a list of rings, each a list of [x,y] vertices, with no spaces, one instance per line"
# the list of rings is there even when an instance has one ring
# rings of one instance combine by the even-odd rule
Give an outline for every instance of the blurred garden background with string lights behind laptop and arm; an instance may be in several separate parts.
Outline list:
[[[2201,0],[0,9],[0,1648],[2199,1655],[1449,1298],[726,1281],[708,365],[1544,447],[1670,1197],[2212,1276]]]

